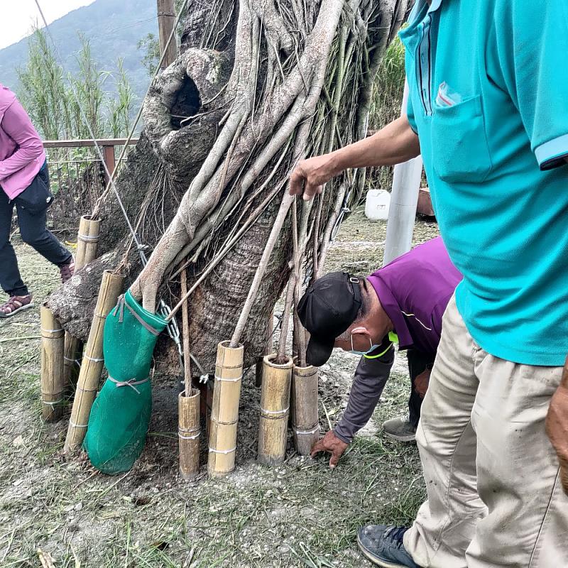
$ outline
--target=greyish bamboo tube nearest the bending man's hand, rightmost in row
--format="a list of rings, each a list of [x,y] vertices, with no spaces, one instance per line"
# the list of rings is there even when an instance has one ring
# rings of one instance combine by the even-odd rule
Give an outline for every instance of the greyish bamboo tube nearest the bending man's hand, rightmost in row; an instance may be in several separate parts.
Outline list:
[[[300,456],[309,456],[320,439],[317,407],[317,367],[294,366],[292,373],[291,413],[294,446]]]

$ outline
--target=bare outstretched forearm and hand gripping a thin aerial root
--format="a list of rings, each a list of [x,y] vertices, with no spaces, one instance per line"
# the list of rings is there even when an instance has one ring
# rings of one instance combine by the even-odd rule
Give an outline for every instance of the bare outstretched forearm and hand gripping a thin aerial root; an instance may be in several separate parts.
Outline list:
[[[349,168],[395,165],[420,154],[418,136],[406,116],[388,124],[364,140],[329,154],[300,162],[290,176],[290,194],[310,200],[324,183]]]

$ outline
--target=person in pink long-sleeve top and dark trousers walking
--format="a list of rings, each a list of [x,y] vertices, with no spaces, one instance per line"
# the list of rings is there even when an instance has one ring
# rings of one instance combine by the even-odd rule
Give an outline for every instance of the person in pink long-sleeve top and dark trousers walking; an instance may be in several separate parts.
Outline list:
[[[60,268],[62,282],[71,278],[75,265],[70,251],[45,227],[53,197],[41,138],[16,95],[1,84],[0,187],[0,285],[9,295],[0,317],[10,317],[32,306],[10,243],[14,205],[22,240]]]

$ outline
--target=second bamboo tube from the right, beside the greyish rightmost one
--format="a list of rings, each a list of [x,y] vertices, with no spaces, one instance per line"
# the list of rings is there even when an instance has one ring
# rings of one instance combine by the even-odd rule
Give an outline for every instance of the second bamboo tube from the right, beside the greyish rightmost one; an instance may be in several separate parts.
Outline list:
[[[274,466],[286,455],[286,434],[290,413],[292,359],[275,363],[276,355],[263,359],[261,416],[258,422],[258,461]]]

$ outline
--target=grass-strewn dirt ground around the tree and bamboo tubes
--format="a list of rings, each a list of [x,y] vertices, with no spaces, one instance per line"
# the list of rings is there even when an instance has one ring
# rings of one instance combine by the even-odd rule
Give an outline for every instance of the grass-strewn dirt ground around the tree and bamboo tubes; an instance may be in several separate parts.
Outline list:
[[[342,226],[329,269],[366,273],[380,266],[384,223],[361,212]],[[415,241],[437,234],[417,222]],[[381,436],[381,423],[405,412],[405,356],[369,425],[337,469],[327,459],[291,450],[275,469],[255,461],[260,393],[253,373],[241,395],[236,470],[226,479],[180,481],[177,473],[176,387],[154,391],[145,452],[129,474],[107,477],[88,462],[62,455],[68,413],[40,420],[38,305],[58,277],[18,237],[14,244],[35,308],[0,321],[0,567],[40,567],[38,549],[54,567],[365,567],[356,530],[364,523],[408,523],[424,496],[412,444]],[[349,394],[358,358],[336,353],[322,368],[322,431]],[[49,560],[46,561],[50,566]]]

